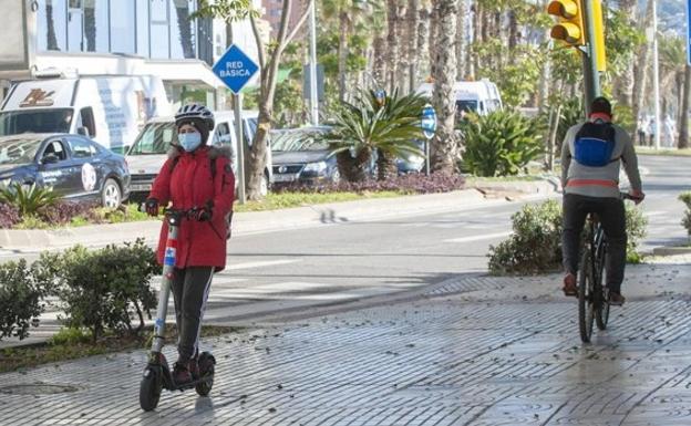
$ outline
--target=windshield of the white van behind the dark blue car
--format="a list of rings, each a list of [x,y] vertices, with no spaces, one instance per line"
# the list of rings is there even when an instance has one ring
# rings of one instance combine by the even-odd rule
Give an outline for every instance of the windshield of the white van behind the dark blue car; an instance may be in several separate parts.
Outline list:
[[[70,133],[72,108],[4,111],[0,113],[0,136],[22,133]]]

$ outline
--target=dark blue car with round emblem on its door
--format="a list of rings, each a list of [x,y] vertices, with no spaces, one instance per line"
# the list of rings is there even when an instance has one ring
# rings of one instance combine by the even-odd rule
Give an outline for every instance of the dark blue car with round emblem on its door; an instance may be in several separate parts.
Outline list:
[[[52,187],[68,199],[97,199],[115,208],[130,195],[122,155],[81,135],[0,136],[0,184]]]

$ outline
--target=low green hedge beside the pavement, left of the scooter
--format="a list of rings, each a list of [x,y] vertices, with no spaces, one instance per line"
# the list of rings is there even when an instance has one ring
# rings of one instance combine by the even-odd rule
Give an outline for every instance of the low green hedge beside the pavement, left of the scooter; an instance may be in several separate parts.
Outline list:
[[[156,295],[151,287],[159,273],[154,250],[137,239],[124,246],[87,250],[75,246],[43,252],[30,268],[25,261],[0,266],[0,339],[25,339],[38,325],[45,295],[56,295],[65,312],[60,321],[87,329],[96,341],[106,331],[138,334]]]

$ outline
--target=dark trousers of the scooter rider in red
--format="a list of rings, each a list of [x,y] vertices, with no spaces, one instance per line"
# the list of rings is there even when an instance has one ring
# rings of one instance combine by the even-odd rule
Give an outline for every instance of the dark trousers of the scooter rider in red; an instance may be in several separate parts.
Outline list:
[[[206,299],[212,288],[213,267],[175,268],[173,272],[173,300],[177,323],[178,361],[186,363],[196,355]]]

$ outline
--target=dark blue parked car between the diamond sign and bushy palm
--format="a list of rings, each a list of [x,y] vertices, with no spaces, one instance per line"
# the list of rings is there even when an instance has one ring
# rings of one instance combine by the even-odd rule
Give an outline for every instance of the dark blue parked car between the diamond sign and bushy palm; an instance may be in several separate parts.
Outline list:
[[[291,183],[338,183],[341,178],[336,156],[330,156],[319,135],[327,126],[277,129],[271,132],[274,185]]]

